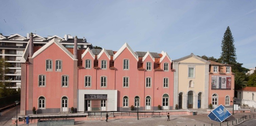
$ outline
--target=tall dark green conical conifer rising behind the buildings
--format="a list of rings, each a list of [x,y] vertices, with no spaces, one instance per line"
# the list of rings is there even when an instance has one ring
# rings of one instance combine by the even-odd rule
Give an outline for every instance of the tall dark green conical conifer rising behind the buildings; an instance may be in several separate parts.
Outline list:
[[[229,26],[224,33],[221,43],[220,61],[225,64],[236,64],[236,48],[234,46],[234,38],[232,36]]]

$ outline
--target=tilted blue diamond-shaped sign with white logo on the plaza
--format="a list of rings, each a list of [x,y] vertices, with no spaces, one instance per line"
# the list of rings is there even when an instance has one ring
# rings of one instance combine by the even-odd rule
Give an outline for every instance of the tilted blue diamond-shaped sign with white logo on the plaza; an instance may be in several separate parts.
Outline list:
[[[223,122],[225,119],[229,118],[231,113],[223,106],[219,105],[217,108],[212,110],[208,115],[211,120]]]

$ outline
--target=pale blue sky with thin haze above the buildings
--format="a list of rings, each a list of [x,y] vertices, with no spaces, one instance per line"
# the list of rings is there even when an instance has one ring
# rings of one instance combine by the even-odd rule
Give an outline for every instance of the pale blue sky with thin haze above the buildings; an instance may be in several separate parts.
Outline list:
[[[237,62],[256,66],[256,1],[2,0],[0,8],[5,36],[67,34],[116,51],[127,42],[134,51],[166,51],[172,60],[192,52],[218,59],[230,26]]]

